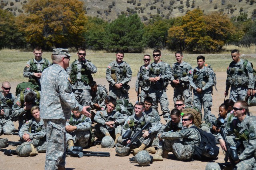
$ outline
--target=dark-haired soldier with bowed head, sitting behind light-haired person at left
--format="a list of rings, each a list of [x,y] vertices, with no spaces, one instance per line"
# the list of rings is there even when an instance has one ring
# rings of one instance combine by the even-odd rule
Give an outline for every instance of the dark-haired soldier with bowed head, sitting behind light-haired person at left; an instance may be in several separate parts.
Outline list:
[[[32,119],[31,108],[38,106],[40,103],[40,91],[34,89],[25,89],[18,94],[12,106],[12,117],[18,117],[20,130],[21,126],[28,120]]]

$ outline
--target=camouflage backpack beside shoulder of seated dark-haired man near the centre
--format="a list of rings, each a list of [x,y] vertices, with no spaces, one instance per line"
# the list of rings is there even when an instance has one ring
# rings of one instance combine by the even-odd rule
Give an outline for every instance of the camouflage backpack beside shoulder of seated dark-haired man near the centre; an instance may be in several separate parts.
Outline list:
[[[125,109],[121,108],[121,105],[124,106]],[[116,111],[120,112],[124,115],[133,115],[134,107],[132,103],[129,103],[127,99],[117,99],[116,100]]]

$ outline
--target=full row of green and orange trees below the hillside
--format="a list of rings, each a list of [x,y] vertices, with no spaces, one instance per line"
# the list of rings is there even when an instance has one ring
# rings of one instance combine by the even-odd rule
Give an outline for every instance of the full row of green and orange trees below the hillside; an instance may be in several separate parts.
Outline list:
[[[222,12],[204,14],[197,8],[176,18],[156,15],[144,24],[137,14],[123,13],[112,22],[86,16],[79,0],[33,0],[23,9],[26,14],[19,16],[0,9],[0,49],[85,46],[142,52],[149,47],[207,53],[220,51],[226,44],[256,44],[256,20],[246,13],[230,19]]]

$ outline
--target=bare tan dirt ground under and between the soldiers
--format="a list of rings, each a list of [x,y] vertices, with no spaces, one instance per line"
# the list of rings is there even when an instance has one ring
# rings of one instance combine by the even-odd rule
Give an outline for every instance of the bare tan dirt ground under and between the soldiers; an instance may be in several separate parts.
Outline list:
[[[216,72],[217,77],[217,89],[218,92],[214,89],[213,90],[213,106],[212,106],[212,113],[218,116],[218,107],[224,101],[224,90],[225,90],[225,82],[226,82],[226,73],[225,72]],[[95,79],[98,84],[106,85],[108,89],[108,82],[106,79]],[[131,89],[129,91],[130,101],[135,103],[137,101],[137,96],[135,92],[135,81],[136,77],[132,77],[132,81],[129,83]],[[15,93],[15,87],[18,82],[11,82],[12,89],[11,92]],[[173,89],[168,86],[167,91],[168,99],[169,99],[169,108],[174,108],[173,103]],[[254,114],[254,110],[256,107],[250,107],[250,112]],[[161,117],[162,118],[162,117]],[[161,120],[162,123],[165,121]],[[14,122],[16,129],[18,129],[18,122]],[[18,136],[15,135],[2,135],[1,138],[8,138],[8,147],[4,149],[15,149],[16,146],[12,146],[13,142],[17,142],[19,140]],[[97,152],[110,152],[110,157],[82,157],[82,158],[74,158],[74,157],[67,157],[66,158],[66,169],[67,170],[105,170],[105,169],[112,169],[112,170],[132,170],[132,169],[170,169],[175,168],[176,170],[203,170],[207,162],[202,162],[198,160],[194,160],[193,162],[183,162],[177,160],[172,152],[169,152],[169,159],[164,159],[164,161],[153,162],[146,167],[140,167],[136,163],[130,163],[129,158],[133,155],[130,154],[125,157],[120,157],[116,155],[115,148],[101,148],[100,145],[96,145],[85,149],[88,151],[97,151]],[[224,162],[224,154],[220,148],[220,154],[218,155],[218,160],[215,162]],[[44,161],[45,161],[45,154],[40,153],[34,157],[20,157],[16,155],[6,156],[3,152],[0,152],[0,160],[1,160],[1,169],[5,170],[42,170],[44,169]]]

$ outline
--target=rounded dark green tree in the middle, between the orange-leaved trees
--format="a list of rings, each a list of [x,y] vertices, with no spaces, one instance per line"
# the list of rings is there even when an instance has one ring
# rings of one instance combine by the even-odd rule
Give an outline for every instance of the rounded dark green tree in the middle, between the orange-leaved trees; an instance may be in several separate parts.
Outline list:
[[[107,51],[141,52],[146,44],[144,26],[138,14],[118,16],[108,24],[105,33],[103,41]]]

